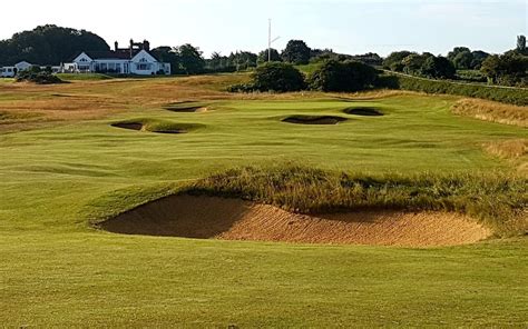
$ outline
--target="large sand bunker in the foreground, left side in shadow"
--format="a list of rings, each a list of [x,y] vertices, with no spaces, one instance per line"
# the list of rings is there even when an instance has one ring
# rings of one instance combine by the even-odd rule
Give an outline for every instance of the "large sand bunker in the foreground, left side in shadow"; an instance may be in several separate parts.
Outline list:
[[[302,243],[438,247],[472,243],[491,231],[444,212],[291,213],[237,199],[172,196],[100,225],[116,233]]]

